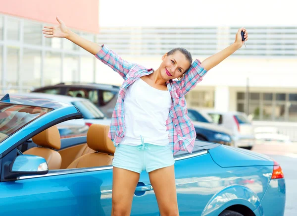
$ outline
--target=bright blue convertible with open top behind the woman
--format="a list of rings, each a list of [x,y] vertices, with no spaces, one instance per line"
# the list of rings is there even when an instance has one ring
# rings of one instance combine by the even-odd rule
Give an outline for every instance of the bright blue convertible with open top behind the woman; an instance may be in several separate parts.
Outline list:
[[[0,215],[108,216],[114,146],[108,126],[86,137],[60,139],[56,124],[82,118],[72,105],[48,99],[0,96]],[[197,141],[175,156],[181,216],[283,216],[285,179],[271,158]],[[131,215],[159,216],[142,173]]]

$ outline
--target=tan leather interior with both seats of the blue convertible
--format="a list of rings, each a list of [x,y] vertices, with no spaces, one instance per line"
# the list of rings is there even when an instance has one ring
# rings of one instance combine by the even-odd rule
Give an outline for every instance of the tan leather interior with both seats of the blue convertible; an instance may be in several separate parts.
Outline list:
[[[23,152],[46,159],[49,169],[71,169],[112,165],[115,147],[108,138],[109,126],[92,124],[87,133],[87,143],[61,149],[57,126],[52,126],[32,137],[38,147]]]

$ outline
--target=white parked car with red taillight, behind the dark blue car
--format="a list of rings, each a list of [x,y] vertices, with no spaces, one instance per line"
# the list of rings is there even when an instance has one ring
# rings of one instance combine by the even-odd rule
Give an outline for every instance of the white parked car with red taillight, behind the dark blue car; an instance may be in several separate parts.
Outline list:
[[[205,110],[205,112],[215,123],[232,131],[236,147],[251,150],[255,145],[253,126],[244,112],[211,110]]]

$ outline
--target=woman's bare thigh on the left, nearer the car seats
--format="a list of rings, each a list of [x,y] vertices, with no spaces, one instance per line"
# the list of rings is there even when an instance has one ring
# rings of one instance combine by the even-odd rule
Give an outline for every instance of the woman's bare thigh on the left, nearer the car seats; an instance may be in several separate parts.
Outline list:
[[[113,167],[111,216],[130,216],[133,194],[140,174]]]

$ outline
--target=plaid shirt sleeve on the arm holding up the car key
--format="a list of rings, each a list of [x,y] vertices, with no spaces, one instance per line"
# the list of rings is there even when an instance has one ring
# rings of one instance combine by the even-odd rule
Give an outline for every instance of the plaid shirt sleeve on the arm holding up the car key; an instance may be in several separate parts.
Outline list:
[[[198,82],[201,82],[206,73],[207,70],[202,67],[201,62],[196,59],[185,73],[185,76],[180,80],[180,89],[183,94],[186,95],[198,84]]]

